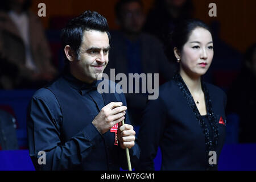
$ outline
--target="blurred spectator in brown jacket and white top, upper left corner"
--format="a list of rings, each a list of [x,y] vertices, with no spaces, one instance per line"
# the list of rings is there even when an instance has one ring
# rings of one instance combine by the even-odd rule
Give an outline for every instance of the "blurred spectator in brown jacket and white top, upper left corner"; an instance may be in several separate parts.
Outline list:
[[[7,68],[0,77],[3,89],[40,88],[56,76],[44,29],[30,5],[30,0],[1,1],[0,60]]]

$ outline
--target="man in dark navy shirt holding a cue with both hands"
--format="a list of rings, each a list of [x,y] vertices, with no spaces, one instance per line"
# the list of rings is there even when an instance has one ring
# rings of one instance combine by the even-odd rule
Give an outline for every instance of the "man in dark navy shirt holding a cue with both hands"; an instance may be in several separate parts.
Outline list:
[[[131,165],[138,162],[125,96],[97,92],[108,64],[108,29],[104,16],[91,11],[63,29],[63,75],[39,89],[28,107],[28,145],[36,169],[119,170],[127,168],[126,147]],[[45,152],[45,161],[40,162],[40,151]]]

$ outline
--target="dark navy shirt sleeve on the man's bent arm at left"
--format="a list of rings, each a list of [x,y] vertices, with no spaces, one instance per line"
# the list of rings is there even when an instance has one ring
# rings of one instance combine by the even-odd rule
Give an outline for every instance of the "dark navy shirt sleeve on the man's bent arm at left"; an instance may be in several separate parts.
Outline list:
[[[93,151],[101,134],[92,123],[68,142],[61,143],[63,115],[56,97],[48,89],[40,89],[27,112],[27,133],[30,156],[37,170],[74,169]],[[39,164],[39,151],[46,152],[46,164]]]

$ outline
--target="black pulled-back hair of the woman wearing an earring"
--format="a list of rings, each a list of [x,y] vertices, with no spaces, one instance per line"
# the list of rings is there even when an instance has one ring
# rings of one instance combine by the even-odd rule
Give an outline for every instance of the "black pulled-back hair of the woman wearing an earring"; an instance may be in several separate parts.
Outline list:
[[[182,51],[183,46],[188,41],[192,31],[197,27],[204,28],[205,30],[208,30],[210,34],[212,34],[210,27],[199,19],[183,20],[177,24],[174,31],[170,32],[166,47],[166,53],[170,59],[174,59],[174,48],[176,47],[179,51]]]

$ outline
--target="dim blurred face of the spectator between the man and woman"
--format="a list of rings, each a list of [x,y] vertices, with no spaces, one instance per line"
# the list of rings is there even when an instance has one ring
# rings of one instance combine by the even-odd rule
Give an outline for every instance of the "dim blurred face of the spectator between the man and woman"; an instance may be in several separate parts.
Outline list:
[[[141,32],[144,26],[144,14],[138,2],[129,2],[121,7],[121,17],[119,24],[123,31],[129,34]]]

